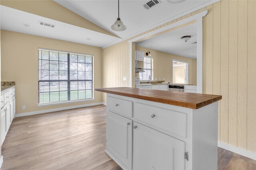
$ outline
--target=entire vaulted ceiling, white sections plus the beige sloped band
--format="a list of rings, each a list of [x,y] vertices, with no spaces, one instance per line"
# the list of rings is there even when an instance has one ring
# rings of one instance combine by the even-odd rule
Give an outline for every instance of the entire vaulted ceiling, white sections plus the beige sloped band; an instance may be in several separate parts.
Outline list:
[[[161,0],[146,10],[142,5],[148,1],[120,0],[120,18],[127,29],[118,32],[110,28],[118,17],[117,0],[1,0],[1,29],[106,47],[218,0]],[[40,27],[38,21],[56,28]]]

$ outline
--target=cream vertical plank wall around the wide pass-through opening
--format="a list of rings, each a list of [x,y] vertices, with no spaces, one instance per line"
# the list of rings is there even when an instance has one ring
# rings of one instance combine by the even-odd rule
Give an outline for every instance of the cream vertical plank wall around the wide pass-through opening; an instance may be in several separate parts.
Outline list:
[[[134,37],[206,9],[208,14],[203,18],[203,93],[222,95],[218,140],[256,152],[255,0],[222,0]],[[104,87],[128,86],[128,40],[107,47],[102,53]],[[123,81],[124,76],[127,81]]]

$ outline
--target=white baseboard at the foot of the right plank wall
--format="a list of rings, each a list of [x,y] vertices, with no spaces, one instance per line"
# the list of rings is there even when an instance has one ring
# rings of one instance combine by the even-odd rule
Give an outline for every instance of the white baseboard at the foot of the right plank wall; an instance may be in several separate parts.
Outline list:
[[[222,142],[218,142],[218,147],[220,147],[222,149],[229,150],[231,152],[235,152],[235,153],[240,154],[242,156],[245,156],[247,158],[251,158],[251,159],[256,160],[256,153],[254,153],[254,152],[250,152],[248,150],[240,149],[240,148],[237,148],[237,147],[234,147],[232,145],[228,145],[228,144],[222,143]]]

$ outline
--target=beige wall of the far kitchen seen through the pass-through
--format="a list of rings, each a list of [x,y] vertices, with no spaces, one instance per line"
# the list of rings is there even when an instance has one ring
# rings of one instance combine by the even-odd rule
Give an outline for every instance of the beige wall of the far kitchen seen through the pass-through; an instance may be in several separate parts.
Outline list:
[[[190,59],[187,57],[181,57],[178,55],[173,55],[169,53],[164,53],[162,51],[157,51],[153,49],[148,49],[140,46],[136,46],[135,49],[137,51],[150,51],[153,59],[153,74],[154,78],[165,78],[166,82],[172,83],[172,59],[186,61],[189,63],[189,83],[196,84],[196,60]],[[146,55],[145,55],[146,56]],[[134,80],[135,81],[135,80]]]

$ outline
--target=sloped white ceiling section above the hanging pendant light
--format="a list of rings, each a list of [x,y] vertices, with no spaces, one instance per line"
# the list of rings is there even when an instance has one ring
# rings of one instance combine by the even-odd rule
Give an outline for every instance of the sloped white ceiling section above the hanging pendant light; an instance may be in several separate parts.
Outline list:
[[[183,0],[179,4],[171,4],[167,0],[161,0],[162,3],[149,10],[144,9],[142,4],[150,0],[120,0],[120,18],[127,26],[127,29],[121,32],[113,31],[110,28],[118,17],[117,0],[54,1],[124,39],[210,0]],[[218,0],[213,1],[217,2]]]

